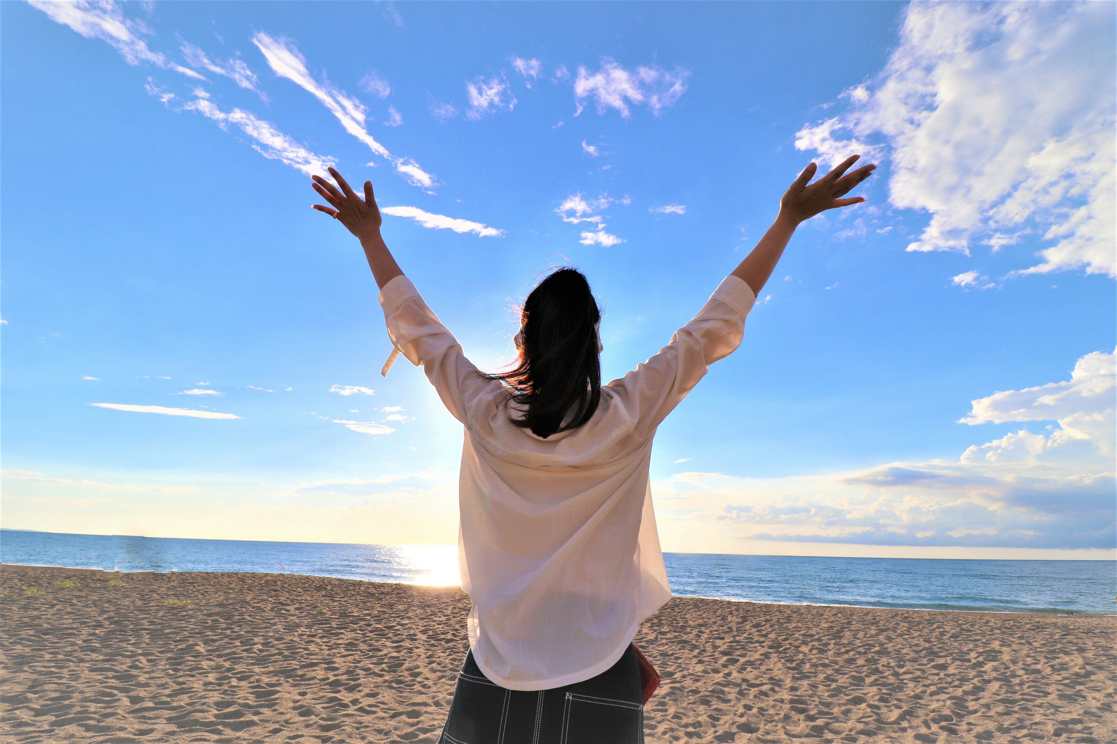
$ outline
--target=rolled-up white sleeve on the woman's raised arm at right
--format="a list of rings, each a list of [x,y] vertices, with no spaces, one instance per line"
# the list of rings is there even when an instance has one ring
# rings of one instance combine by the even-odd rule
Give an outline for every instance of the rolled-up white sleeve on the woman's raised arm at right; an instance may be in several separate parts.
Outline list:
[[[709,365],[741,346],[745,318],[755,301],[756,296],[743,279],[726,277],[698,315],[675,332],[670,344],[609,384],[638,432],[653,432],[705,377]]]

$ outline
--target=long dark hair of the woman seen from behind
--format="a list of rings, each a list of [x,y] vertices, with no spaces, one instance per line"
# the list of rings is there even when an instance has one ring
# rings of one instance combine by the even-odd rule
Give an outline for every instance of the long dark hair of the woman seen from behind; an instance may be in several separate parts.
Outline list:
[[[576,269],[556,269],[532,290],[521,312],[519,363],[489,375],[514,390],[522,416],[512,416],[513,424],[547,437],[590,421],[601,400],[600,321],[590,282]]]

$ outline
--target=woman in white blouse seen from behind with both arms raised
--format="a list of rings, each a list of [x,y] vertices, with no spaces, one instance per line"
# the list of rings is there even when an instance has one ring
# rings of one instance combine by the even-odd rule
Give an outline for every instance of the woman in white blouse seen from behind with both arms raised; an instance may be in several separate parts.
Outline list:
[[[397,354],[422,365],[465,425],[458,560],[472,600],[470,651],[445,744],[642,742],[632,638],[670,599],[648,468],[663,417],[741,344],[745,316],[800,222],[863,199],[840,199],[873,165],[850,157],[810,184],[806,166],[756,248],[659,354],[601,384],[601,320],[585,278],[560,269],[527,297],[518,365],[480,373],[403,276],[380,235],[364,184],[314,176],[361,240]],[[843,175],[844,174],[844,175]],[[810,185],[809,185],[810,184]]]

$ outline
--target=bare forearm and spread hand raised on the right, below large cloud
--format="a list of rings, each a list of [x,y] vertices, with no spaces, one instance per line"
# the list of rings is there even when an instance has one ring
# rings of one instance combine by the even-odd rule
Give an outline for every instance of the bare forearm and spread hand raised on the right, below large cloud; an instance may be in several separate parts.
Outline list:
[[[795,178],[795,183],[791,184],[783,199],[780,200],[780,214],[775,222],[756,243],[756,248],[733,270],[733,276],[744,279],[745,283],[753,290],[753,294],[761,293],[761,289],[772,276],[775,264],[783,255],[783,249],[786,248],[791,234],[795,232],[800,222],[810,220],[825,210],[849,206],[865,201],[860,196],[838,199],[848,194],[853,186],[868,178],[876,170],[876,165],[865,165],[843,176],[842,174],[859,157],[861,156],[853,155],[830,173],[808,185],[818,171],[818,166],[811,163],[803,168],[803,172]]]

